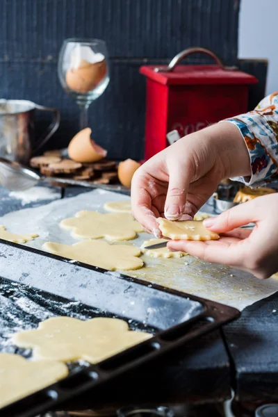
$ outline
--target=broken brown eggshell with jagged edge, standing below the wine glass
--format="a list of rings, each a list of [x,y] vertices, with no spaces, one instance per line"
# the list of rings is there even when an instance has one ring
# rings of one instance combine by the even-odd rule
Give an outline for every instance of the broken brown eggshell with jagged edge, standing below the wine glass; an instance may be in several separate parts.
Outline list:
[[[86,127],[72,138],[67,152],[73,161],[88,163],[97,162],[106,157],[107,151],[90,138],[92,130]]]

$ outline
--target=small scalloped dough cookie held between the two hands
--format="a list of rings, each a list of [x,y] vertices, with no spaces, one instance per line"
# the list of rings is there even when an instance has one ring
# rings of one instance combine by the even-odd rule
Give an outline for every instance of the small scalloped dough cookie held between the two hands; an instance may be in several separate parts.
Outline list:
[[[163,236],[174,240],[217,240],[219,235],[204,227],[202,220],[172,221],[156,219]]]

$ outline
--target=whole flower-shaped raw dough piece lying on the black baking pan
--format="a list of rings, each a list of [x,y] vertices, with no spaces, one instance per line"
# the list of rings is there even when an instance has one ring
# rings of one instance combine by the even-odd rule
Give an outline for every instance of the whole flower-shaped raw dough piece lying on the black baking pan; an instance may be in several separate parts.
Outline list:
[[[118,318],[83,321],[54,317],[40,322],[38,329],[15,334],[12,341],[19,347],[33,349],[34,359],[63,362],[83,359],[97,363],[151,337],[146,332],[132,332]]]

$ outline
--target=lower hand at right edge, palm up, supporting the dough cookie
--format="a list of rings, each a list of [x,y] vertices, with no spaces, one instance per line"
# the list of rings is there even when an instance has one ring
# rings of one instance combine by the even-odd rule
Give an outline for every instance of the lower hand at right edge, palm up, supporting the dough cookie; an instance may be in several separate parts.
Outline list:
[[[219,240],[171,240],[170,250],[181,250],[211,263],[222,263],[265,279],[278,271],[278,194],[258,197],[204,220]],[[236,229],[250,222],[253,230]]]

